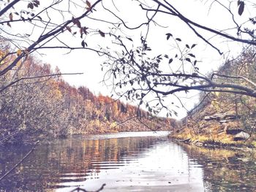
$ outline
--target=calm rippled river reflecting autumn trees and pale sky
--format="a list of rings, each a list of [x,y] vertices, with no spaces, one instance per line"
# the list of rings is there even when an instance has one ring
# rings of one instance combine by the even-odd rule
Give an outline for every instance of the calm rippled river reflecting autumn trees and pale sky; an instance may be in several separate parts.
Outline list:
[[[256,191],[255,154],[178,145],[167,131],[55,139],[37,146],[1,191]],[[30,147],[0,148],[0,175]]]

